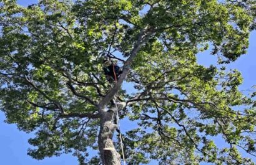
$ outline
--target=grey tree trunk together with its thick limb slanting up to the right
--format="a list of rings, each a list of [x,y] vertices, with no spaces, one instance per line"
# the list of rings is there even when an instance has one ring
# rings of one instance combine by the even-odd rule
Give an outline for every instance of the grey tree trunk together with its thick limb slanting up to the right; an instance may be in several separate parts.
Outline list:
[[[154,29],[148,26],[140,30],[137,41],[134,44],[134,48],[130,52],[129,58],[122,67],[122,74],[119,76],[118,81],[114,87],[107,92],[107,95],[99,102],[99,105],[97,105],[97,108],[99,108],[99,113],[101,113],[101,126],[98,136],[98,145],[103,165],[121,165],[121,156],[119,153],[117,153],[112,141],[114,131],[117,128],[117,125],[115,125],[113,122],[115,115],[114,112],[118,112],[118,110],[104,111],[103,109],[117,95],[117,92],[121,88],[121,85],[130,70],[130,65],[132,64],[137,52],[139,52],[141,45],[147,42],[153,33]]]

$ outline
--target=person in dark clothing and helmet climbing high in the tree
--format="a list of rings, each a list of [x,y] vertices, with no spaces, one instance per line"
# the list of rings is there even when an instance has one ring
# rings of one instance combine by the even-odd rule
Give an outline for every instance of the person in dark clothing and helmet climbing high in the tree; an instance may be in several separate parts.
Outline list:
[[[107,77],[107,80],[109,82],[117,82],[119,75],[121,75],[122,70],[121,68],[117,65],[116,60],[104,60],[103,61],[103,70],[104,74]]]

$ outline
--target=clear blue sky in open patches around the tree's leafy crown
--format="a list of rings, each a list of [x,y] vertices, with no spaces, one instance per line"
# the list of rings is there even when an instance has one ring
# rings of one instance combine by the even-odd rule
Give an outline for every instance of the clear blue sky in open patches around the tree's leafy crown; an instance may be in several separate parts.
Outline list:
[[[19,4],[26,6],[35,3],[36,0],[18,0]],[[244,83],[240,86],[240,90],[246,90],[256,85],[256,31],[250,35],[250,46],[248,53],[242,55],[236,62],[229,65],[229,68],[237,68],[242,72]],[[204,52],[198,55],[198,62],[202,65],[210,65],[216,63],[216,58]],[[0,111],[0,162],[3,165],[75,165],[77,159],[71,155],[62,154],[61,157],[47,158],[37,161],[27,156],[27,148],[29,144],[27,139],[32,134],[26,134],[19,130],[15,125],[7,125],[4,123],[4,114]],[[124,125],[123,125],[124,126]],[[122,127],[122,123],[121,123]],[[126,128],[123,128],[126,130]],[[256,161],[256,159],[254,159]],[[155,164],[155,163],[154,163]],[[153,165],[153,163],[152,163]]]

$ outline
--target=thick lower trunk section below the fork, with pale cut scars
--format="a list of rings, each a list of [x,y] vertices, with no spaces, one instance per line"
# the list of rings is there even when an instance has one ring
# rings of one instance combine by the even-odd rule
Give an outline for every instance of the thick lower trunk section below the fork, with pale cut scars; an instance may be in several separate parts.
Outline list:
[[[101,127],[98,136],[99,151],[104,165],[121,165],[121,156],[117,153],[112,141],[117,125],[114,124],[114,111],[101,115]]]

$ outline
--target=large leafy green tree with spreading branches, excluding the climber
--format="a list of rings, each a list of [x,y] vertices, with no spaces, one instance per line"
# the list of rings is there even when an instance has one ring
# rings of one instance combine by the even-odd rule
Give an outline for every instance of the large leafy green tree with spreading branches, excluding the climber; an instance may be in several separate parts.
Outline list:
[[[138,123],[122,133],[128,164],[254,164],[240,151],[256,154],[256,93],[245,96],[240,73],[225,69],[246,53],[254,0],[42,0],[28,7],[3,0],[0,7],[1,110],[7,123],[35,134],[32,158],[72,153],[80,164],[121,164],[119,114]],[[196,54],[209,45],[219,65],[207,68]],[[104,76],[106,58],[122,64],[117,83]],[[99,156],[88,157],[88,149]]]

